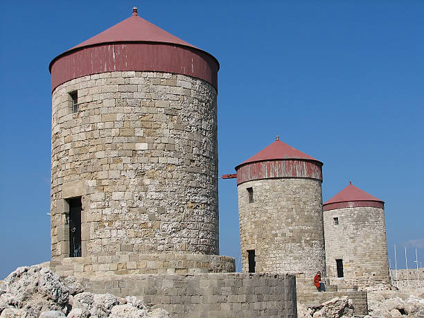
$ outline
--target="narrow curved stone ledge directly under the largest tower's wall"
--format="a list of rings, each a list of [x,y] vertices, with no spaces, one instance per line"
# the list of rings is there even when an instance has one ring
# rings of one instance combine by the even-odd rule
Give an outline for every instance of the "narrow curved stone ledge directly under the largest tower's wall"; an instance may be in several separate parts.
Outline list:
[[[60,276],[107,274],[200,274],[235,272],[234,258],[202,254],[124,254],[68,257],[52,260],[50,267]]]

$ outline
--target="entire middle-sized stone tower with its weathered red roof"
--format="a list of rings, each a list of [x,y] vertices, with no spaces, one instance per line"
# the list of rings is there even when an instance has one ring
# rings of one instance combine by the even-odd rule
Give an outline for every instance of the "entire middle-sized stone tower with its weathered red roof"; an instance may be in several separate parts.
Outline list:
[[[278,137],[236,167],[243,272],[325,274],[321,167]]]

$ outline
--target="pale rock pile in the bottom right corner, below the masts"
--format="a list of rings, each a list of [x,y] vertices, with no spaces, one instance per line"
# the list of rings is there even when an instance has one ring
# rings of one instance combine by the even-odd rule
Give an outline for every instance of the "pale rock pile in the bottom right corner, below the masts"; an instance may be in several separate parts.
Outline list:
[[[424,317],[424,289],[374,290],[367,317]]]

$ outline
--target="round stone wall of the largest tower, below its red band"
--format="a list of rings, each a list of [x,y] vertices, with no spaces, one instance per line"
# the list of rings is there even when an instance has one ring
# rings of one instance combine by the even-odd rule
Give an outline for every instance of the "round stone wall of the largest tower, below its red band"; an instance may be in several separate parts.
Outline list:
[[[64,199],[78,196],[82,256],[219,253],[216,95],[204,80],[134,71],[53,91],[53,260],[69,256]]]

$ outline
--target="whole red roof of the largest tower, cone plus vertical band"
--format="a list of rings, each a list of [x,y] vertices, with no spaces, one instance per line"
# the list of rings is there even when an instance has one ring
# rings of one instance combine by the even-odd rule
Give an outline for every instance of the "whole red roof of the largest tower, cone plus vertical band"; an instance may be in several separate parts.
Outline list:
[[[182,74],[211,83],[218,92],[220,64],[213,55],[132,16],[56,56],[48,66],[51,90],[82,76],[115,71]]]

